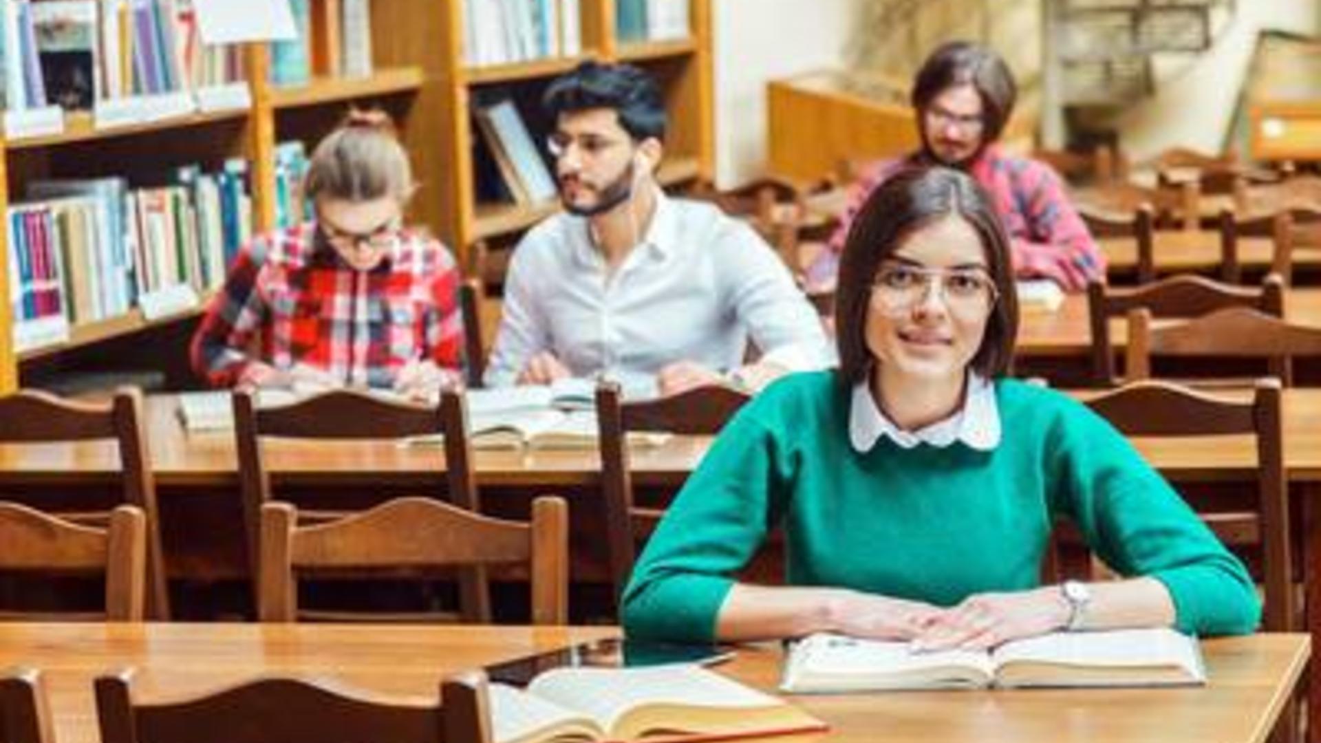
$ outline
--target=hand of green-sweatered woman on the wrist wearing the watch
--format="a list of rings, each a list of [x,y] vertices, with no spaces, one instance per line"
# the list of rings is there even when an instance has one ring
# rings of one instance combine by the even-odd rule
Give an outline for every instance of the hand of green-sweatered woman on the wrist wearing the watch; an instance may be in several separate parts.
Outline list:
[[[1054,632],[1069,623],[1069,602],[1055,586],[1012,594],[975,594],[941,611],[913,641],[922,650],[982,650]]]

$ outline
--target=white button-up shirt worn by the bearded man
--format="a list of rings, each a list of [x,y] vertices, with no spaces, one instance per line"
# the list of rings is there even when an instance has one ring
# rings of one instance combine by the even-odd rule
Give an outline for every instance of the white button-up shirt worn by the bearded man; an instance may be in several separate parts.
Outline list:
[[[553,353],[576,377],[625,382],[688,360],[716,372],[762,358],[818,369],[831,353],[789,270],[748,225],[708,204],[658,194],[643,239],[613,276],[584,217],[560,213],[528,231],[505,280],[490,386]]]

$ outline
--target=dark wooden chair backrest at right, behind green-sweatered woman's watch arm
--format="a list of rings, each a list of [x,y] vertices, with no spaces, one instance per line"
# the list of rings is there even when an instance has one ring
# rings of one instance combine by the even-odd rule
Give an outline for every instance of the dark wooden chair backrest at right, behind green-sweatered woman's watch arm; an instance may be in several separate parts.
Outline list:
[[[1139,381],[1092,398],[1087,405],[1127,436],[1255,435],[1255,512],[1242,516],[1205,514],[1203,518],[1227,543],[1260,543],[1266,578],[1266,629],[1291,629],[1296,613],[1280,382],[1259,381],[1252,398],[1244,401],[1213,397],[1172,382]]]

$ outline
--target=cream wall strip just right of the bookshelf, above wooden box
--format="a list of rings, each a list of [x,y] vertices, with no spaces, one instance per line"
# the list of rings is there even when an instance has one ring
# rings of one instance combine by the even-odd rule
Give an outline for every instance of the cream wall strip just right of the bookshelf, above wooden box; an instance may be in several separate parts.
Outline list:
[[[715,1],[719,185],[765,169],[766,81],[840,66],[856,8],[856,0]]]

